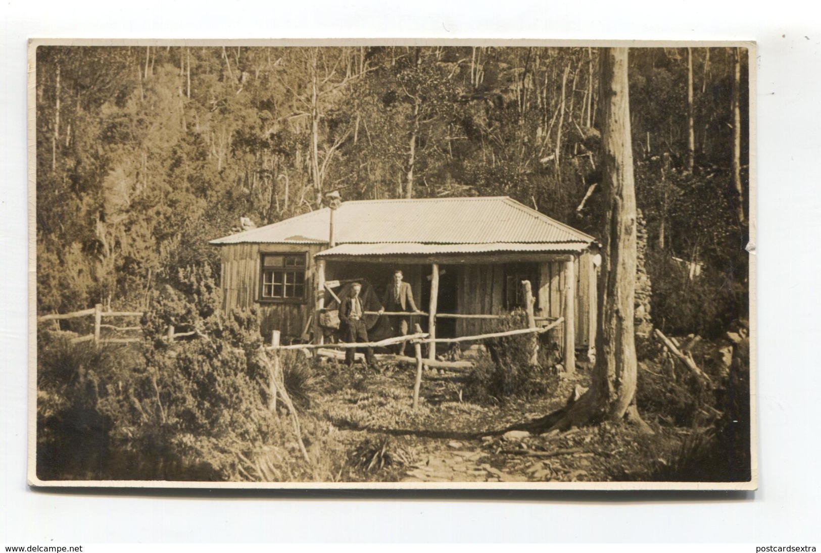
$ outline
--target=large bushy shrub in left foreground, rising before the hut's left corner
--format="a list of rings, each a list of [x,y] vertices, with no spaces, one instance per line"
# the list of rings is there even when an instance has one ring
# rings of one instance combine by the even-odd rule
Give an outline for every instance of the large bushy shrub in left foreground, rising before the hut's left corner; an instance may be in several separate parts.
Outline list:
[[[144,315],[145,363],[129,382],[131,408],[112,405],[119,411],[117,445],[157,462],[120,468],[130,478],[259,476],[257,461],[273,459],[283,429],[267,408],[271,392],[259,357],[258,313],[213,308],[218,296],[207,270],[181,276],[189,281],[183,292],[158,295]],[[169,345],[162,339],[167,323],[185,323],[197,336]],[[268,478],[276,471],[264,473]]]

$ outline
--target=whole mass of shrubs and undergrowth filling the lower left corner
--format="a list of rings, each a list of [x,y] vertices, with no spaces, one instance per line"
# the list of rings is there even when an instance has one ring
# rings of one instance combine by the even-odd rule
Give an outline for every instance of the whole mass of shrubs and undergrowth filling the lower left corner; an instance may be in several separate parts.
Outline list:
[[[48,333],[39,340],[40,478],[310,475],[291,422],[268,409],[259,313],[222,313],[208,268],[186,269],[179,278],[179,286],[152,298],[139,345],[99,348]],[[195,335],[169,344],[168,324]],[[285,364],[291,395],[307,402],[310,368]]]

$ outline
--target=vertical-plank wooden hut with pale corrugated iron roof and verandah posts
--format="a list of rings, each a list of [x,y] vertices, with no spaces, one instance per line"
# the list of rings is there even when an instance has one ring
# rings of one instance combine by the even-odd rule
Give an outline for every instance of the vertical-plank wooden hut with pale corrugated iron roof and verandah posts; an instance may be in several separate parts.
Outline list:
[[[565,318],[560,344],[594,345],[598,245],[511,198],[351,201],[211,244],[222,258],[223,307],[259,305],[266,336],[319,336],[328,288],[366,279],[381,295],[401,268],[429,313],[421,326],[438,337],[479,334],[490,320],[480,316],[523,307],[527,280],[537,319]]]

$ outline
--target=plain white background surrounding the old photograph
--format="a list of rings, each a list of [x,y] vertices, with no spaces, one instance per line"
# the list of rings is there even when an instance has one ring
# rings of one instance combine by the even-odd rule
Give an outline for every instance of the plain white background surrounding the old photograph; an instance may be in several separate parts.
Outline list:
[[[0,543],[819,542],[819,44],[805,2],[4,1]],[[809,6],[810,2],[807,2]],[[25,485],[26,43],[331,37],[758,41],[759,491],[186,495]]]

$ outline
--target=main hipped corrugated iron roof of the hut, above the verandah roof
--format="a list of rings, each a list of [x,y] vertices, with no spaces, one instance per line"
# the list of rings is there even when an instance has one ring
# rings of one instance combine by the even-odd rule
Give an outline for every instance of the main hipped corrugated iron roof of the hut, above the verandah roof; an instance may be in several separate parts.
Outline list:
[[[328,243],[328,208],[212,240],[211,244]],[[334,213],[337,244],[494,244],[585,242],[576,231],[516,200],[501,197],[378,199],[342,203]]]

